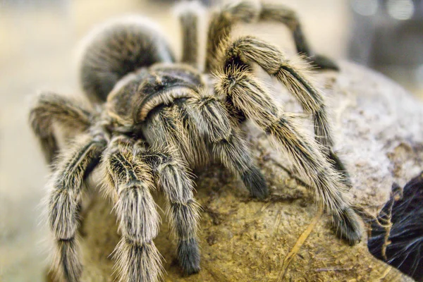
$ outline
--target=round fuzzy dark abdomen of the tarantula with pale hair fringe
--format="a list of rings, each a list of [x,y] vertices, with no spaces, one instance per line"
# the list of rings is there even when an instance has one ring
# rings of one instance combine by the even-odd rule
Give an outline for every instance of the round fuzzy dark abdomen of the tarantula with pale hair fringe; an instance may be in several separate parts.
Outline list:
[[[82,55],[80,80],[92,102],[105,102],[124,75],[154,63],[175,62],[164,35],[154,23],[128,18],[95,30]]]

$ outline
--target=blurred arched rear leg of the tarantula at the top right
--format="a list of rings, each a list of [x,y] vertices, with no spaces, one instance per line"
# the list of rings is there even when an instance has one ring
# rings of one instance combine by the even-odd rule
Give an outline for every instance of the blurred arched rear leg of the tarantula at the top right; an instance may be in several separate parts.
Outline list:
[[[298,53],[304,54],[319,68],[338,70],[336,63],[330,59],[314,55],[307,43],[300,20],[292,9],[282,4],[269,4],[261,1],[235,1],[223,6],[221,11],[212,15],[207,35],[207,71],[216,69],[216,56],[222,42],[227,42],[232,28],[237,23],[276,22],[286,25],[293,34],[295,47]]]

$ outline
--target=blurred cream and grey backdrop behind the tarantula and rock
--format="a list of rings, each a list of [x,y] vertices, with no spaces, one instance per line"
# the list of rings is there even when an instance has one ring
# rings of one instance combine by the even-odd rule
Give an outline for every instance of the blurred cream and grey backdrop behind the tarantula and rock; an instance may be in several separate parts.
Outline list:
[[[276,0],[274,0],[276,1]],[[78,43],[125,14],[156,20],[180,51],[165,0],[0,0],[0,281],[44,281],[47,229],[39,225],[48,174],[27,126],[40,90],[80,95]],[[205,1],[208,5],[212,0]],[[423,1],[280,0],[298,11],[314,51],[381,71],[423,99]],[[239,27],[295,54],[285,27]]]

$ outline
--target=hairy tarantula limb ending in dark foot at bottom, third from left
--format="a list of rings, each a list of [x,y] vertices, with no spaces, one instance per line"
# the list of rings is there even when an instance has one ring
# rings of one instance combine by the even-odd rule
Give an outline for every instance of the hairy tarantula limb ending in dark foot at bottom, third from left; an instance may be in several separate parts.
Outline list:
[[[197,229],[199,205],[192,193],[193,183],[188,168],[170,149],[138,147],[137,157],[153,168],[157,185],[168,202],[167,216],[178,240],[178,260],[185,274],[200,271]]]

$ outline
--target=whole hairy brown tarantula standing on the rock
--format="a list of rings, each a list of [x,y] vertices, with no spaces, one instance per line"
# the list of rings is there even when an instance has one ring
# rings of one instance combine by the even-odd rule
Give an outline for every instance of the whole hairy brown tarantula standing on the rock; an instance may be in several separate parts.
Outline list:
[[[51,164],[49,226],[56,240],[56,269],[78,281],[82,264],[77,229],[82,184],[92,170],[104,171],[103,185],[114,202],[121,241],[114,257],[122,281],[157,281],[161,258],[154,238],[159,214],[152,190],[168,202],[167,216],[177,238],[177,256],[186,274],[200,271],[197,243],[199,205],[190,168],[221,161],[243,181],[253,197],[268,194],[240,123],[250,120],[276,141],[309,181],[317,201],[333,217],[338,234],[357,243],[361,227],[348,200],[348,176],[333,153],[324,98],[304,70],[261,39],[231,41],[235,23],[276,21],[292,30],[298,51],[321,68],[336,68],[312,56],[295,13],[285,6],[238,1],[212,13],[207,32],[205,71],[200,71],[198,33],[201,6],[180,9],[183,54],[176,62],[161,32],[141,19],[106,25],[90,37],[81,80],[92,107],[54,93],[42,93],[30,123]],[[315,140],[300,133],[253,64],[283,83],[314,120]],[[211,75],[214,74],[214,75]],[[61,149],[57,126],[70,135]]]

